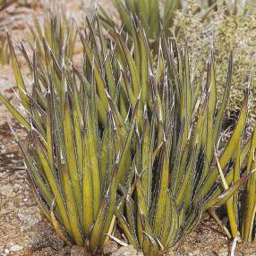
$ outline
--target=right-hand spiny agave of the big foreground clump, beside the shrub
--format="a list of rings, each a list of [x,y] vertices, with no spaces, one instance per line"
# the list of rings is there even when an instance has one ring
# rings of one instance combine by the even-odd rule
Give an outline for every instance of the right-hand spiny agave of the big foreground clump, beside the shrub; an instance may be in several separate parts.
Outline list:
[[[119,40],[123,54],[127,55],[122,38]],[[230,187],[222,194],[214,148],[231,86],[232,55],[226,90],[217,107],[213,54],[209,57],[206,77],[203,69],[201,77],[196,78],[186,47],[181,53],[174,42],[163,39],[156,69],[151,65],[149,52],[144,52],[144,57],[141,55],[141,49],[149,47],[145,38],[133,38],[133,41],[138,41],[134,55],[141,57],[132,60],[130,55],[127,64],[134,77],[147,81],[144,98],[149,103],[143,105],[143,118],[134,138],[133,178],[115,215],[128,243],[145,255],[158,255],[191,232],[207,210],[224,203],[251,174],[231,185],[234,170],[228,170]],[[132,83],[133,91],[127,88],[131,102],[140,84],[142,81]],[[138,90],[142,91],[142,86]],[[219,160],[222,167],[229,165],[243,133],[247,102],[245,96],[235,131]],[[243,155],[245,152],[246,149]]]

